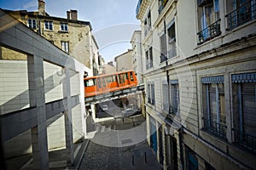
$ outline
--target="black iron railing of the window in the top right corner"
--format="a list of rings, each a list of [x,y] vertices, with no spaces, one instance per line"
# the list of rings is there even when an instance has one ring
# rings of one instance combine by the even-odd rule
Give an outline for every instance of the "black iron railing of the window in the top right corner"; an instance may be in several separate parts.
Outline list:
[[[226,18],[228,31],[241,26],[247,21],[254,20],[256,19],[256,3],[253,0],[243,3],[241,7],[236,8],[230,14],[226,14]]]

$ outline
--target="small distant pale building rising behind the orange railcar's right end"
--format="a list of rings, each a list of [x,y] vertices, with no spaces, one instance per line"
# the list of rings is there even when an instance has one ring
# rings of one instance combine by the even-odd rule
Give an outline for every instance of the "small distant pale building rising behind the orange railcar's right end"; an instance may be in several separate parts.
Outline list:
[[[128,49],[124,54],[119,54],[114,58],[116,62],[116,71],[130,71],[132,70],[132,50]]]

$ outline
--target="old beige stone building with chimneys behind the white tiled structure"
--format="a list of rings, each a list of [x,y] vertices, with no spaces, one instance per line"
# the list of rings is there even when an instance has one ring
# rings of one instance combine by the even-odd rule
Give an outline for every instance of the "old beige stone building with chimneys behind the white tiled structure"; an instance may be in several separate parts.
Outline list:
[[[38,0],[38,11],[5,11],[90,68],[92,71],[89,73],[90,76],[96,76],[101,56],[98,54],[98,46],[91,33],[90,22],[78,20],[77,10],[67,11],[67,19],[50,16],[44,6],[44,0]],[[3,54],[9,53],[5,52],[5,49],[2,49]],[[7,56],[16,57],[14,54]],[[19,58],[22,59],[20,56]]]

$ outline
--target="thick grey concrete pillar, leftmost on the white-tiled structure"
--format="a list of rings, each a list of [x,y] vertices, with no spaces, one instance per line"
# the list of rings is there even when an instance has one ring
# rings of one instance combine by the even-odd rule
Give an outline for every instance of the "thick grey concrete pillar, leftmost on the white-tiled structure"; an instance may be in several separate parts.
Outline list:
[[[37,107],[38,124],[32,127],[32,157],[35,169],[49,169],[47,124],[44,95],[44,60],[27,56],[30,106]]]

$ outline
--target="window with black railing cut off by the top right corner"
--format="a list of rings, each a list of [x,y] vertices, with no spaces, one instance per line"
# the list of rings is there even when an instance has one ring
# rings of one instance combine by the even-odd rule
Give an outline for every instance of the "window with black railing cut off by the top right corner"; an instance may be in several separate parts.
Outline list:
[[[256,19],[256,0],[227,0],[227,30]]]

